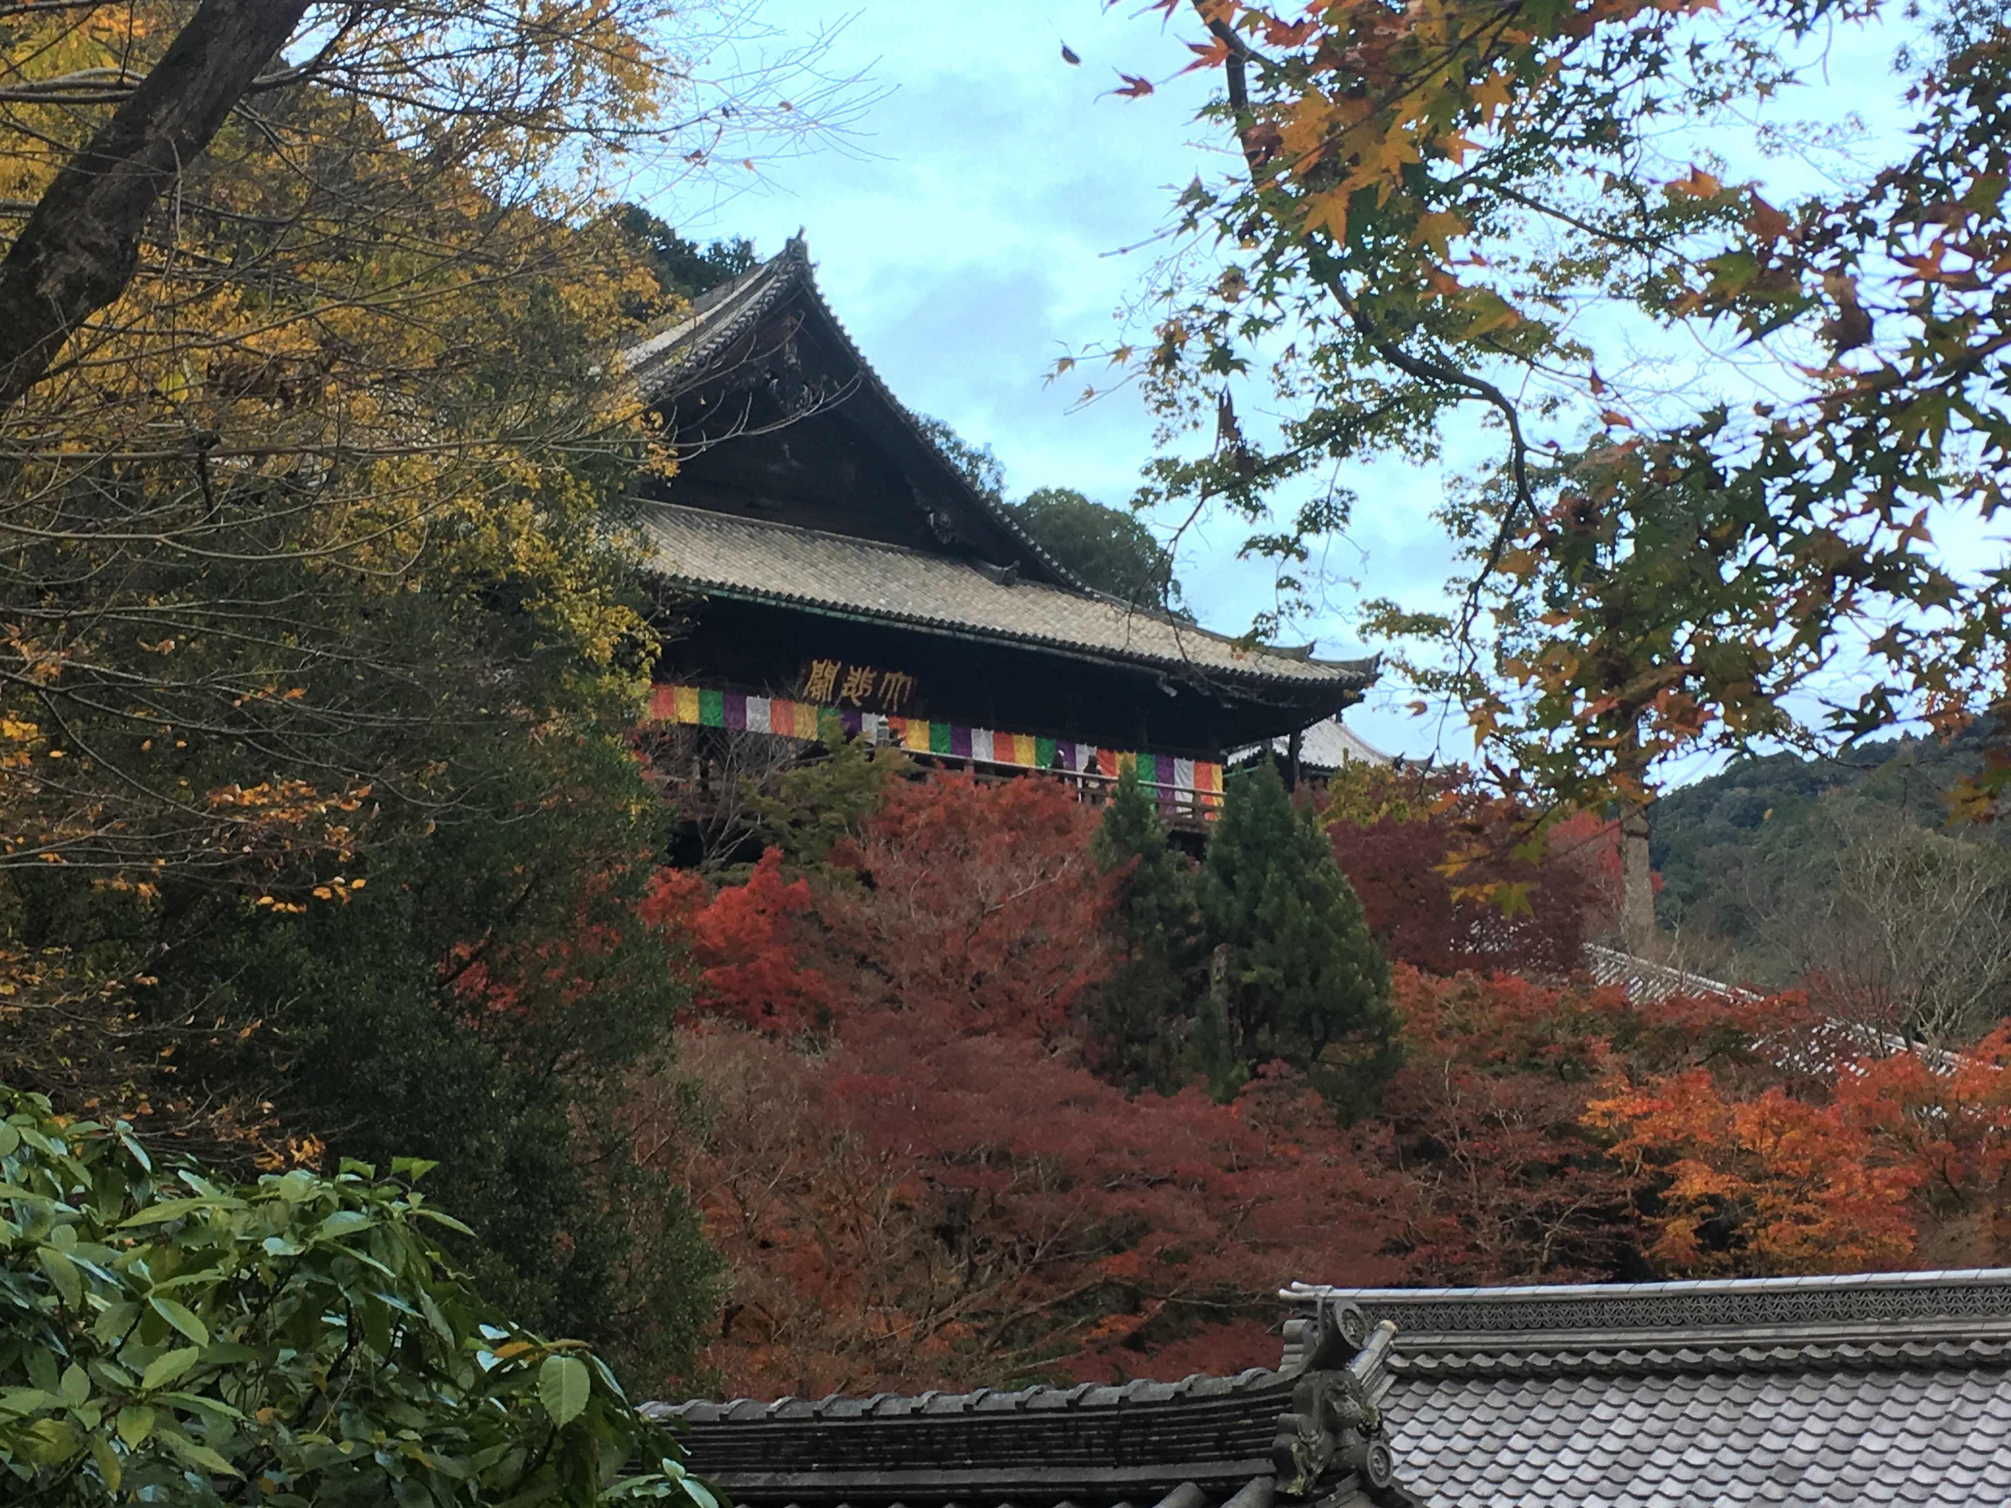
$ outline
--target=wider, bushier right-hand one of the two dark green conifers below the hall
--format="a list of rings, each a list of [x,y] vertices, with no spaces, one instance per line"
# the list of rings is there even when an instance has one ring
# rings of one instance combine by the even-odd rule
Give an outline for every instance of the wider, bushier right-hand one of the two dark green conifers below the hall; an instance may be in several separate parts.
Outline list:
[[[1271,760],[1231,776],[1199,899],[1237,1060],[1285,1060],[1343,1116],[1374,1108],[1398,1066],[1390,963]]]

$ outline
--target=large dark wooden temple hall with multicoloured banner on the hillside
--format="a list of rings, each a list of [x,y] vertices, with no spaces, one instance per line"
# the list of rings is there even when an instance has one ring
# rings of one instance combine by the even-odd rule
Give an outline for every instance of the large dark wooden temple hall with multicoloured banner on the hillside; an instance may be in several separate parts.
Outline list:
[[[1136,762],[1195,818],[1229,750],[1331,718],[1376,678],[1374,659],[1253,647],[1084,587],[875,376],[800,237],[629,360],[678,456],[644,509],[688,603],[658,724],[843,728],[1090,792]]]

